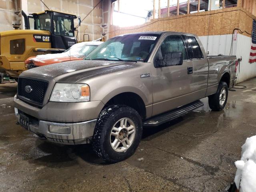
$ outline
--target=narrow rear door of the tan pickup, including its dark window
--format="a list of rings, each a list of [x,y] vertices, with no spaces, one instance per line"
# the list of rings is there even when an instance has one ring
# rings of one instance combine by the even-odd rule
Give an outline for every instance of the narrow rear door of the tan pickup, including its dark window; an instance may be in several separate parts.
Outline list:
[[[188,48],[190,54],[190,59],[193,61],[193,73],[191,74],[191,89],[194,92],[194,96],[199,98],[205,97],[207,89],[207,79],[208,79],[208,60],[205,54],[202,52],[196,37],[186,36],[188,43]]]

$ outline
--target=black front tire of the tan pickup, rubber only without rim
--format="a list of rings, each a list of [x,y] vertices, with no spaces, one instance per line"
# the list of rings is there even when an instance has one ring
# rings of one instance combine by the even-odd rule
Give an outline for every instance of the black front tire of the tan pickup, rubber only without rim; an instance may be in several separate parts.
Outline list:
[[[132,144],[123,152],[116,152],[110,145],[110,134],[113,126],[122,118],[129,118],[135,125],[135,136]],[[104,161],[116,163],[134,154],[142,136],[142,120],[140,114],[126,105],[112,105],[100,113],[97,120],[92,146],[96,154]]]

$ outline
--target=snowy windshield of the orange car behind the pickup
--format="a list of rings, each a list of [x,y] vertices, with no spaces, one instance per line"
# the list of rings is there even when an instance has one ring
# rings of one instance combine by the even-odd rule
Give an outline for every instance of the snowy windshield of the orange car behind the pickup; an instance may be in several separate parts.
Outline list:
[[[64,53],[67,53],[70,56],[81,58],[86,57],[90,52],[96,49],[96,45],[84,45],[83,43],[74,44]]]

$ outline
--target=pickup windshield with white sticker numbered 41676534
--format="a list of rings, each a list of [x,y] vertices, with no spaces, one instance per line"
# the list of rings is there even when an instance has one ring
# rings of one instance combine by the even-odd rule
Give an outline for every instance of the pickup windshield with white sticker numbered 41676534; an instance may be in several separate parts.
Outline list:
[[[86,60],[147,61],[160,34],[128,34],[98,46]]]

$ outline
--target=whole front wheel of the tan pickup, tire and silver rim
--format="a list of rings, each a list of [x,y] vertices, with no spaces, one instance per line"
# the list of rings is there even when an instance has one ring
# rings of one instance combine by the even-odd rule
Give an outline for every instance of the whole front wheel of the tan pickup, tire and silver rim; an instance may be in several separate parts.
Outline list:
[[[141,136],[142,120],[138,112],[129,106],[113,105],[100,113],[92,144],[100,158],[115,163],[135,152]]]

